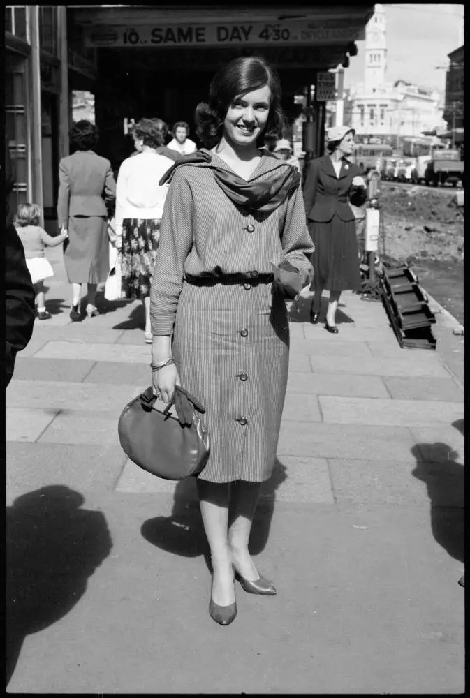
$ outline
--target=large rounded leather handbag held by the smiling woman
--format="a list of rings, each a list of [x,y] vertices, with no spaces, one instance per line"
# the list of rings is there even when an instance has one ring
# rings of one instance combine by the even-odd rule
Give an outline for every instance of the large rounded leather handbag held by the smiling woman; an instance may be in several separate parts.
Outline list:
[[[198,475],[207,463],[210,440],[195,408],[205,409],[180,386],[163,412],[154,408],[155,401],[150,386],[126,405],[118,424],[122,448],[136,465],[164,480]],[[170,415],[173,403],[178,418]]]

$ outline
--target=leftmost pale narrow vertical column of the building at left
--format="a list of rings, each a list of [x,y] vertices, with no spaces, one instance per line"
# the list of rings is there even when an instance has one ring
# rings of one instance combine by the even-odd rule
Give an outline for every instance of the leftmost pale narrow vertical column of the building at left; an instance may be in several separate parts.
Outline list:
[[[29,6],[31,22],[31,151],[32,151],[32,196],[41,209],[43,219],[43,156],[41,134],[41,59],[39,41],[39,6]]]

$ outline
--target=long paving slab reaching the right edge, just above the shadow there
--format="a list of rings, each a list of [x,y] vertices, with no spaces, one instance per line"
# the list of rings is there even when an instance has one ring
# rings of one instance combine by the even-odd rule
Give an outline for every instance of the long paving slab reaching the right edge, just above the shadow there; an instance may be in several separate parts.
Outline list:
[[[426,400],[381,400],[321,395],[323,422],[332,424],[383,424],[411,426],[412,424],[449,424],[463,419],[463,403],[431,402]]]

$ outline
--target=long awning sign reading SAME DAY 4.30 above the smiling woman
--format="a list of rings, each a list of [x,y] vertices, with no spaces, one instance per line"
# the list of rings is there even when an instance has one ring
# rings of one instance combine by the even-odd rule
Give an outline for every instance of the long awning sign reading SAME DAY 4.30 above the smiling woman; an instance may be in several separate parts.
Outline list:
[[[279,24],[170,24],[122,27],[101,25],[87,27],[87,47],[207,47],[263,45],[328,45],[359,40],[359,26],[323,27],[312,22],[281,22]]]

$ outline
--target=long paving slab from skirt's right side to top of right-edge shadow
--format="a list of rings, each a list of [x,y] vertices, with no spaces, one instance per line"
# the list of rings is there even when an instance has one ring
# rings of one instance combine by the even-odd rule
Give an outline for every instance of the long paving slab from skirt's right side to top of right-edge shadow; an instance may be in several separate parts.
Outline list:
[[[411,431],[397,426],[282,422],[277,453],[283,456],[409,461],[415,445]]]

